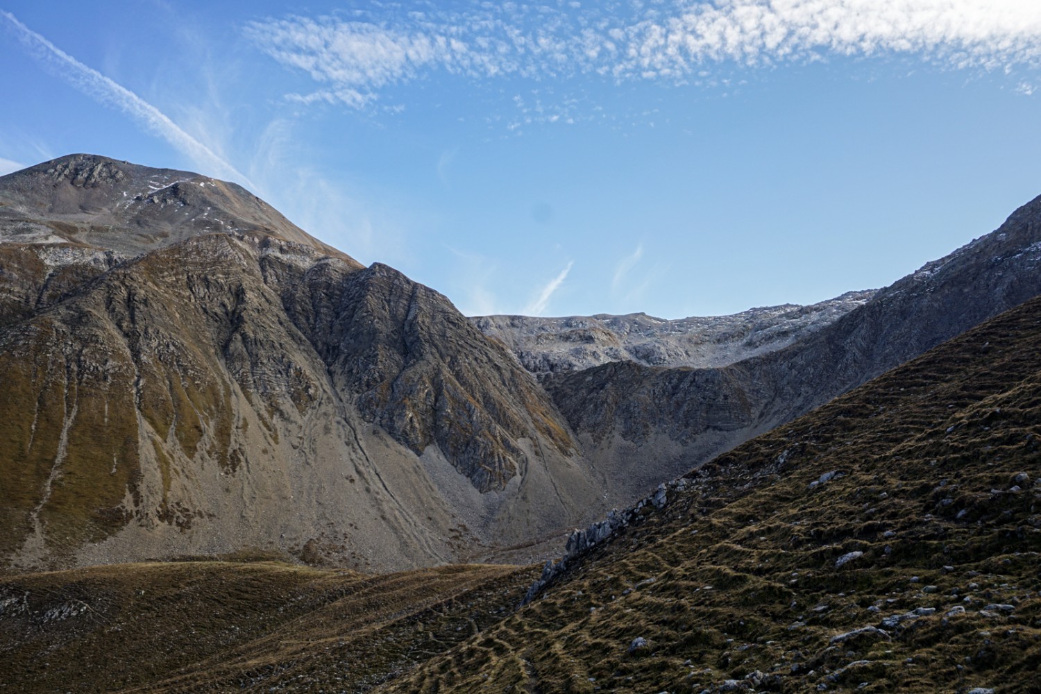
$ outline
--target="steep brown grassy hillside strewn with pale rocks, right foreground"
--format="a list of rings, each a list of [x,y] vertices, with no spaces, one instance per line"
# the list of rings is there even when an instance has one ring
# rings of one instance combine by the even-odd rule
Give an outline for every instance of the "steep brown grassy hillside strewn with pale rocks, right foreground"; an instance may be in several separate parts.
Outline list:
[[[716,459],[387,690],[1041,691],[1039,437],[1034,300]]]

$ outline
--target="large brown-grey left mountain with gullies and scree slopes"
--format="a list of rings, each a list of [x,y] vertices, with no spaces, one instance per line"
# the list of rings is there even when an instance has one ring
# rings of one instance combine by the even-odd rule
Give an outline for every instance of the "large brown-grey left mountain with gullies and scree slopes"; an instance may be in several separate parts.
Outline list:
[[[80,173],[61,178],[69,162]],[[51,198],[100,206],[159,176],[81,157],[35,169],[43,226],[74,213]],[[0,179],[23,215],[26,177]],[[74,241],[0,243],[7,561],[262,546],[404,568],[588,515],[600,487],[554,405],[443,297],[293,229],[200,229],[191,199],[187,228],[153,233],[150,205]],[[5,211],[0,229],[22,229]]]

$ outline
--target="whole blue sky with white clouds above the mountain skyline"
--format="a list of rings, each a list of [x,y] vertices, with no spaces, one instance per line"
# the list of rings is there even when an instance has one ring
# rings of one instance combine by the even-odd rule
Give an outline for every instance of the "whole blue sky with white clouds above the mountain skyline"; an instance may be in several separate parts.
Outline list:
[[[0,11],[0,173],[233,179],[471,315],[809,304],[1041,194],[1037,0]]]

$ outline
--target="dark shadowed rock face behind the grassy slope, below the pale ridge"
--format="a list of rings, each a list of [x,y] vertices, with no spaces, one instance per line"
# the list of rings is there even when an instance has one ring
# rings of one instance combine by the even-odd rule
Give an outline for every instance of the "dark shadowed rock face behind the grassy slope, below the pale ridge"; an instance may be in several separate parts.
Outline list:
[[[587,455],[625,451],[679,473],[1041,293],[1039,269],[1041,198],[782,350],[716,369],[605,364],[544,384]]]

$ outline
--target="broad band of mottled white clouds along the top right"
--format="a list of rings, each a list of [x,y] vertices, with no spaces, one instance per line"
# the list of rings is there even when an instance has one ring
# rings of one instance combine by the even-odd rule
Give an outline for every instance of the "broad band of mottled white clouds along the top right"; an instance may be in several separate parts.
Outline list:
[[[588,3],[587,3],[588,4]],[[577,6],[576,6],[577,5]],[[619,10],[620,11],[620,10]],[[1041,62],[1041,3],[1034,0],[718,0],[517,5],[352,19],[252,22],[247,36],[303,71],[315,91],[296,101],[362,108],[381,89],[437,72],[489,80],[595,76],[697,81],[711,63],[739,67],[830,55],[914,55],[943,67],[991,70]]]

